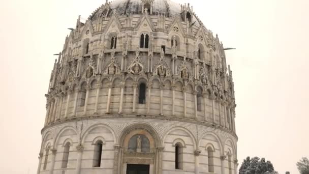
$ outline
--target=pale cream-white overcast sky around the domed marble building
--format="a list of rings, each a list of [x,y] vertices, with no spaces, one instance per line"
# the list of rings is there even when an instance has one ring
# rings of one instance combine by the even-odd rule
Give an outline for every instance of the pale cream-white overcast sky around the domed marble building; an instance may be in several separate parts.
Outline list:
[[[176,0],[175,0],[176,1]],[[36,173],[44,94],[68,27],[104,0],[0,0],[0,173]],[[275,170],[298,173],[309,157],[307,0],[190,2],[226,47],[236,92],[239,166],[265,157]]]

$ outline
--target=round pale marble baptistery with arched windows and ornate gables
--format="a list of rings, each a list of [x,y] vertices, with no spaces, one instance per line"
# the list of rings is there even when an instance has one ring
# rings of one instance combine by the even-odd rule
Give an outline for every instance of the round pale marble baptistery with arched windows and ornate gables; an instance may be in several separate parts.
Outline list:
[[[237,173],[232,71],[193,7],[106,1],[70,30],[38,174]]]

